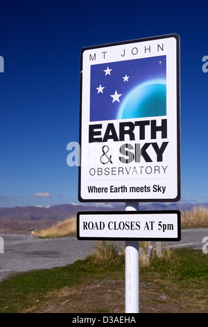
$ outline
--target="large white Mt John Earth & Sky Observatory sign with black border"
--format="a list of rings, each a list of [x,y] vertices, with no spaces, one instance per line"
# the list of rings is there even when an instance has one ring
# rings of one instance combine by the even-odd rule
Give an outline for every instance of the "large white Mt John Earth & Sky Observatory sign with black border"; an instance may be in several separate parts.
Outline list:
[[[180,38],[81,51],[79,200],[180,200]]]

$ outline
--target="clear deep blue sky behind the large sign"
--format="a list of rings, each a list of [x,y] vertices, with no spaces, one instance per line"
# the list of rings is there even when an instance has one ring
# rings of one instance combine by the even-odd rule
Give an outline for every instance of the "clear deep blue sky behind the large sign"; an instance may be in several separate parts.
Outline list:
[[[78,141],[80,50],[170,33],[181,45],[182,200],[208,201],[206,1],[1,0],[0,8],[0,207],[78,203],[67,144]]]

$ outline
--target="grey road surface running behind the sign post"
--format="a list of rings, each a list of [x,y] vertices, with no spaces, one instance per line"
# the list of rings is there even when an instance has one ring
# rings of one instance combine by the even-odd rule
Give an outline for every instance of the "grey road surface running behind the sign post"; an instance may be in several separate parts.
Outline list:
[[[28,234],[0,234],[0,237],[4,245],[0,253],[0,281],[15,272],[66,266],[94,250],[94,241],[78,241],[76,237],[38,239]],[[208,228],[182,230],[181,241],[166,242],[166,246],[202,249],[204,237],[208,237]]]

